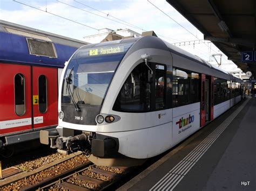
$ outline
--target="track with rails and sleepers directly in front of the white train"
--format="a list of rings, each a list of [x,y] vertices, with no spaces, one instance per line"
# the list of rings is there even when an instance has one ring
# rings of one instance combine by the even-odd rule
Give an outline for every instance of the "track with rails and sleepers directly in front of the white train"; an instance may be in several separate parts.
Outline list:
[[[104,190],[129,172],[125,167],[81,165],[23,190]]]

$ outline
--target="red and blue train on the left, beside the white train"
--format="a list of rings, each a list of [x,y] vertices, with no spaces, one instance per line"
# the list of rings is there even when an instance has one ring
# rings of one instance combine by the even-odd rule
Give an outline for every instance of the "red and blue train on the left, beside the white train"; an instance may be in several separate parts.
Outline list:
[[[0,151],[58,124],[58,79],[83,41],[0,20]]]

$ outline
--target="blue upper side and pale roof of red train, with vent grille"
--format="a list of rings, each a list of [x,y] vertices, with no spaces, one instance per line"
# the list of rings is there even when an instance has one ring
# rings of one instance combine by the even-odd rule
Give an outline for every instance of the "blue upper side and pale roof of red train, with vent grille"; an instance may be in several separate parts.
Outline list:
[[[0,62],[64,67],[88,43],[0,20]]]

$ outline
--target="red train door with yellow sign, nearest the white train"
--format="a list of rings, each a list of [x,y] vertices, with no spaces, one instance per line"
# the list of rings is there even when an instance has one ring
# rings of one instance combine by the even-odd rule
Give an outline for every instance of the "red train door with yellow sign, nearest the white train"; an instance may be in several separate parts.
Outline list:
[[[58,124],[57,68],[32,67],[33,128]]]

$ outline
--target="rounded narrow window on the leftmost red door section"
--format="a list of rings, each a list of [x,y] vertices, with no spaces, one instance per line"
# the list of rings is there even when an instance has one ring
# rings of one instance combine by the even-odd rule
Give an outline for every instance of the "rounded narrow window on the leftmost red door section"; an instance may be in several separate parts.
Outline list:
[[[14,77],[15,112],[18,116],[25,114],[25,78],[23,74]]]

